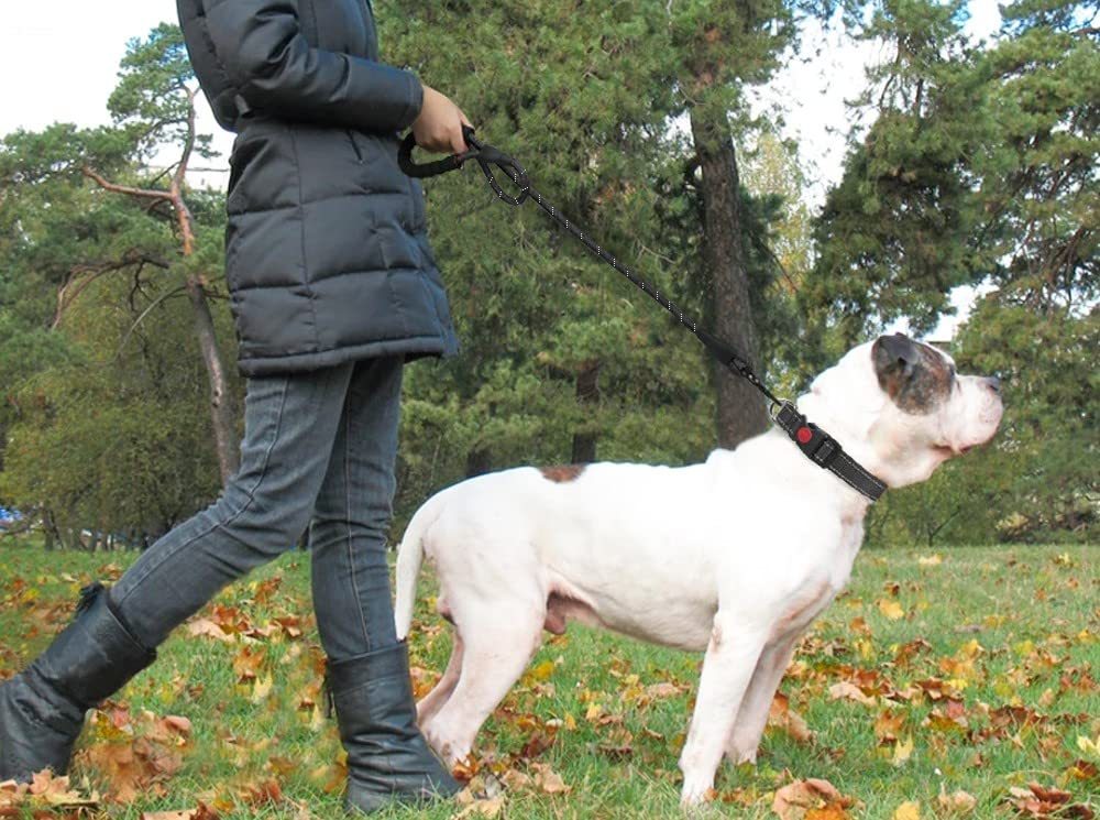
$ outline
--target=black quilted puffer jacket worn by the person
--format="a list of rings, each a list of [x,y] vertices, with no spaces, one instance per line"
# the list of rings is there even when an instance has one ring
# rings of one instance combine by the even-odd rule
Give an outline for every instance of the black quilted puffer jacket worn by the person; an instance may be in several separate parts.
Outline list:
[[[422,87],[377,61],[367,0],[177,0],[230,157],[226,276],[242,375],[458,350],[398,131]]]

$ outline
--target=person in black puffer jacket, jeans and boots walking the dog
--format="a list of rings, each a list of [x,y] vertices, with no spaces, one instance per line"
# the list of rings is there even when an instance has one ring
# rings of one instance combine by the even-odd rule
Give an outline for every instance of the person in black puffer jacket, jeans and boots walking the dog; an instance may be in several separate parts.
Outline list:
[[[460,153],[465,116],[378,62],[369,0],[177,0],[191,64],[237,132],[226,275],[246,378],[241,466],[0,686],[0,780],[64,774],[85,712],[156,658],[221,588],[308,527],[345,806],[454,794],[416,725],[384,533],[404,363],[458,351],[398,132]]]

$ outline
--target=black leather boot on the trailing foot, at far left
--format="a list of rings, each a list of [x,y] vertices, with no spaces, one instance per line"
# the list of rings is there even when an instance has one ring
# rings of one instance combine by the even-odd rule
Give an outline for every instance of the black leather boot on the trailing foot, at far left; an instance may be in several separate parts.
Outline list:
[[[106,588],[80,590],[73,622],[0,686],[0,781],[68,770],[84,715],[156,659],[114,614]]]

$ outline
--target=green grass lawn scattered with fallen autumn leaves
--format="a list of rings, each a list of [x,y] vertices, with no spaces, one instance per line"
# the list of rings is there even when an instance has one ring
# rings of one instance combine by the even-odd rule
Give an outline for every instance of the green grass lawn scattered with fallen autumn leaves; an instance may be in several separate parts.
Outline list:
[[[1008,818],[1018,816],[1010,789],[1030,783],[1100,811],[1100,757],[1078,742],[1100,742],[1100,549],[937,555],[859,556],[848,591],[805,636],[781,687],[816,736],[769,728],[756,767],[723,764],[704,816],[776,817],[776,789],[811,777],[856,801],[847,814],[820,817],[889,819],[906,801],[922,818],[949,816],[937,796],[964,790],[977,801],[970,817]],[[132,560],[0,546],[0,678],[62,627],[82,583],[116,578]],[[431,593],[422,580],[413,642],[421,693],[450,645]],[[308,556],[285,556],[198,619],[86,730],[72,774],[76,788],[99,791],[92,813],[141,818],[202,801],[221,818],[339,816],[342,764],[318,691]],[[211,636],[226,628],[232,639]],[[497,817],[678,816],[676,758],[700,663],[571,626],[546,643],[483,729],[474,788],[503,794]],[[849,697],[832,697],[842,691]],[[172,715],[188,719],[189,731],[163,720]]]

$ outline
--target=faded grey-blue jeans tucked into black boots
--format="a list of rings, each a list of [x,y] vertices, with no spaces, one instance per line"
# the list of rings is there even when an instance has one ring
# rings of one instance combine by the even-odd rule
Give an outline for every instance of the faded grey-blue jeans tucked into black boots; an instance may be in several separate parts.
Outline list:
[[[248,381],[241,467],[111,588],[148,647],[309,527],[314,609],[332,659],[392,646],[385,531],[404,357]]]

